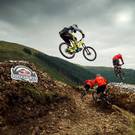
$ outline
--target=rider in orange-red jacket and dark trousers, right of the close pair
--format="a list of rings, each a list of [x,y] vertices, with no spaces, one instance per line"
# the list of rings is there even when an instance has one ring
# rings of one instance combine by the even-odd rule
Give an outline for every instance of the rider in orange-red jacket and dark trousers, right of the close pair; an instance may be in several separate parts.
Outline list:
[[[106,90],[107,80],[100,74],[96,75],[94,85],[97,85],[97,94],[103,93]]]

